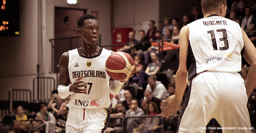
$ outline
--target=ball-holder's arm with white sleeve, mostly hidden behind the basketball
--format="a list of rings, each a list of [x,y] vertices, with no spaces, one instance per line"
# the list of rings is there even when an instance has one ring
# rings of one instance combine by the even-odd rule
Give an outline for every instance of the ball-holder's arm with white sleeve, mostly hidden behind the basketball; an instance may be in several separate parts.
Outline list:
[[[112,51],[111,54],[113,54],[113,53],[115,53],[115,52]],[[135,64],[135,71],[136,71],[137,63],[134,62],[134,64]],[[132,77],[132,76],[133,76],[133,74],[130,75],[130,77]],[[124,83],[125,83],[125,80],[117,81],[117,80],[114,80],[114,79],[110,78],[110,93],[113,94],[113,95],[117,95],[119,93],[119,91],[121,90],[121,88],[123,88]]]

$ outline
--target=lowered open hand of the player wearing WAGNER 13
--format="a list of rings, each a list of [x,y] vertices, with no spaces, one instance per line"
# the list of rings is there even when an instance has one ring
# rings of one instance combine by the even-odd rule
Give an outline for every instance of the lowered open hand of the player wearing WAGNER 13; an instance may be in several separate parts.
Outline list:
[[[170,116],[174,116],[177,118],[177,109],[182,100],[178,100],[175,98],[175,95],[170,95],[165,100],[162,100],[165,103],[165,106],[162,110],[162,116],[165,118],[170,118]]]

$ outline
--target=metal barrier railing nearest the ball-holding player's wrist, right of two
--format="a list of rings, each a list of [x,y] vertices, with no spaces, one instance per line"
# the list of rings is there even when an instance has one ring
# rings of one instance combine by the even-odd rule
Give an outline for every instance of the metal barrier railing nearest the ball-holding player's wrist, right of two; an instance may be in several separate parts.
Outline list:
[[[35,82],[36,79],[37,82]],[[53,77],[34,77],[33,101],[49,101],[52,98],[52,91],[55,89],[55,79]]]

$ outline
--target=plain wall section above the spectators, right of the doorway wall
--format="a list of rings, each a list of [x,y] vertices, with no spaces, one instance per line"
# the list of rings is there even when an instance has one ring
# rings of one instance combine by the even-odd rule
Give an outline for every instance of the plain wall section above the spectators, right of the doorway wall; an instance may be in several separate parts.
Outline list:
[[[113,28],[131,27],[139,41],[143,21],[149,20],[159,27],[159,0],[113,0]]]

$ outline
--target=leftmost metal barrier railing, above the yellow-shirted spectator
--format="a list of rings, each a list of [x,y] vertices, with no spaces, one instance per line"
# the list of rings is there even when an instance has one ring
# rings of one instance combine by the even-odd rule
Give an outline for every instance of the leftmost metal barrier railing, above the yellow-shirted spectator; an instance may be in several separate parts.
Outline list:
[[[12,95],[11,95],[12,93]],[[29,97],[28,97],[29,96]],[[15,103],[14,105],[14,101]],[[31,103],[31,91],[26,89],[10,89],[9,91],[9,113],[13,112],[13,108],[23,106],[28,109],[28,103]]]

